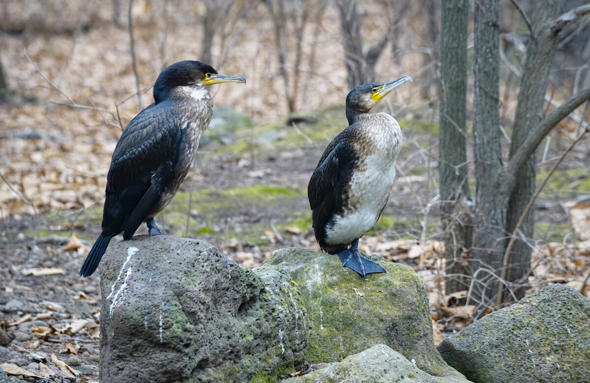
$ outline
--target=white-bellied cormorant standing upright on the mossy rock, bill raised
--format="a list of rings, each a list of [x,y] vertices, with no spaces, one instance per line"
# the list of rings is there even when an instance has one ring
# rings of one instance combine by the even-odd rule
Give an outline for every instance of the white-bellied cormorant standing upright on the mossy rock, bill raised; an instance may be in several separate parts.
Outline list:
[[[359,238],[375,225],[394,184],[402,133],[395,118],[369,111],[409,76],[369,82],[346,96],[349,127],[327,146],[307,186],[313,230],[322,250],[360,275],[384,273],[358,251]],[[349,248],[350,246],[350,248]]]

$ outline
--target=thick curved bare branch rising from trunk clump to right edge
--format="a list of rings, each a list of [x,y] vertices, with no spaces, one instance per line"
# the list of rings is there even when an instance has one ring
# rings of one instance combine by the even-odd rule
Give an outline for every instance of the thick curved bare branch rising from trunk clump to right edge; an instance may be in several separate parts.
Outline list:
[[[588,100],[590,100],[590,87],[572,95],[572,97],[565,101],[565,103],[561,104],[559,108],[543,118],[540,124],[529,133],[525,142],[522,143],[516,153],[514,153],[514,156],[506,166],[506,173],[517,174],[517,171],[523,166],[523,164],[525,164],[530,155],[533,154],[535,148],[539,146],[541,141],[543,141],[543,138],[549,134],[559,121],[563,120],[563,118],[567,117],[568,114],[572,113],[573,110]]]

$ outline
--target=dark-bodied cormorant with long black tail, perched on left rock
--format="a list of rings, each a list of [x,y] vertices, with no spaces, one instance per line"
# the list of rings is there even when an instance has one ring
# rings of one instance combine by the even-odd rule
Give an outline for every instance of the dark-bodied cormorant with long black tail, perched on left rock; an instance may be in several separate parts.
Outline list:
[[[171,200],[188,173],[207,129],[213,102],[207,85],[242,82],[199,61],[170,65],[153,85],[154,103],[123,131],[107,175],[102,232],[80,269],[89,276],[112,237],[130,239],[142,222],[150,235],[162,235],[153,217]]]

